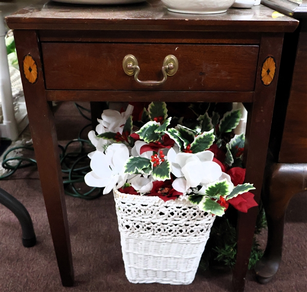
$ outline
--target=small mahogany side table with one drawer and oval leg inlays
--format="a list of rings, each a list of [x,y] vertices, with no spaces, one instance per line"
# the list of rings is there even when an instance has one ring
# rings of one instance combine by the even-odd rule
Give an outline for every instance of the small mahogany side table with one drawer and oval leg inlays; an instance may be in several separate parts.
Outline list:
[[[259,201],[283,36],[298,25],[286,16],[272,18],[272,13],[260,5],[220,15],[185,15],[168,12],[161,1],[149,0],[119,7],[49,2],[6,18],[15,30],[38,171],[64,286],[73,285],[72,254],[54,117],[48,103],[164,100],[249,104],[246,181],[254,183],[255,200]],[[128,54],[136,56],[141,80],[161,80],[166,55],[177,57],[179,69],[163,85],[140,85],[123,71]],[[268,60],[276,64],[276,70],[274,66],[263,69]],[[270,72],[273,80],[268,82]],[[254,207],[239,214],[235,291],[244,289],[257,211]]]

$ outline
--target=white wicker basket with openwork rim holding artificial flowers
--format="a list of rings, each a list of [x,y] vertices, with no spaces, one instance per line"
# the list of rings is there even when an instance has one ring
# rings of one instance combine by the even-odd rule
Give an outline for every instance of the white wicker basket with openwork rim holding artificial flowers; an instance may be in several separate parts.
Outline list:
[[[129,282],[192,283],[216,216],[186,199],[113,193]]]

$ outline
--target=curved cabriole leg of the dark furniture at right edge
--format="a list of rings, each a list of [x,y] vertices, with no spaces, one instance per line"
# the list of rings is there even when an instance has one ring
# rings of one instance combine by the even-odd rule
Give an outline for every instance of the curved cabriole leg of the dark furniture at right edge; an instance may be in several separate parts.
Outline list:
[[[268,221],[264,256],[255,266],[256,279],[268,283],[277,273],[283,250],[286,210],[291,198],[307,187],[307,164],[273,164],[265,179],[262,201]]]

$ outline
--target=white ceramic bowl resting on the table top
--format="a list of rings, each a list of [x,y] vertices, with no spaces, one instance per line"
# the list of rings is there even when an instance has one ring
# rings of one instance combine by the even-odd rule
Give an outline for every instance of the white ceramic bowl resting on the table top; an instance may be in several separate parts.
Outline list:
[[[190,14],[223,13],[235,0],[161,0],[169,11]]]

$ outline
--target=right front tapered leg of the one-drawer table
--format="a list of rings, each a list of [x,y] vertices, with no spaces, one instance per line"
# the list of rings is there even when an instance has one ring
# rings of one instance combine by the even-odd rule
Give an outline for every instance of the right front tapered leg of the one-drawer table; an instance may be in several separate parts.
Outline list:
[[[256,189],[253,193],[257,202],[260,200],[267,158],[282,43],[283,34],[265,34],[261,39],[253,107],[248,114],[244,153],[246,161],[245,181],[254,184]],[[264,85],[261,82],[261,73],[263,63],[268,56],[274,57],[276,70],[271,83]],[[237,256],[233,274],[233,288],[238,292],[244,291],[257,213],[258,208],[253,207],[248,213],[239,212],[238,216]]]

